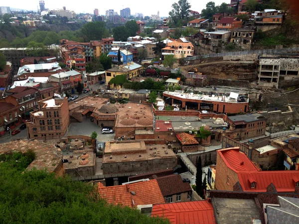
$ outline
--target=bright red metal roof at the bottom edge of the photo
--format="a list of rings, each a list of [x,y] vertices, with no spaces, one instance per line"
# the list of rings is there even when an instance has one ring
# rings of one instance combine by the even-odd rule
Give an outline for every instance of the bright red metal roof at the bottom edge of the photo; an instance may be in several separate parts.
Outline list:
[[[216,224],[212,203],[208,201],[153,205],[151,217],[157,216],[171,224]]]

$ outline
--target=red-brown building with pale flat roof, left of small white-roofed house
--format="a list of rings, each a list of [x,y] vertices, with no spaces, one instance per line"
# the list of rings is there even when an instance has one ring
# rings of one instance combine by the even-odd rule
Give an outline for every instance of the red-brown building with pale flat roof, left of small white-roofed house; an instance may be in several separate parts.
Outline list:
[[[61,86],[62,92],[74,94],[78,83],[82,84],[82,76],[80,72],[72,70],[50,75],[49,82],[53,86]]]

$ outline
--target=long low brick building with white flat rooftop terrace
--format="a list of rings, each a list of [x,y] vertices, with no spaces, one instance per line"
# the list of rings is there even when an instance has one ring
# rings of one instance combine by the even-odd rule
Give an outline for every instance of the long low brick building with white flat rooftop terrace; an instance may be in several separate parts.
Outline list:
[[[166,104],[179,105],[182,109],[192,109],[214,113],[239,113],[247,112],[249,99],[235,99],[226,96],[189,94],[178,92],[163,92]],[[237,98],[237,97],[236,97]]]

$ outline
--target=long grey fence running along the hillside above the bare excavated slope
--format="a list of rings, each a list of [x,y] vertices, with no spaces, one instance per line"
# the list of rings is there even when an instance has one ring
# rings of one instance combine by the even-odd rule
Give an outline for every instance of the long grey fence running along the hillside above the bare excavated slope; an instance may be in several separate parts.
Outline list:
[[[247,54],[277,54],[277,53],[287,53],[287,52],[296,52],[299,51],[299,47],[293,48],[282,48],[282,49],[263,49],[263,50],[254,50],[254,51],[236,51],[236,52],[227,52],[227,53],[217,53],[217,54],[206,54],[206,55],[197,55],[193,57],[184,58],[184,60],[196,60],[202,58],[216,58],[223,56],[236,56],[236,55],[247,55]],[[290,55],[294,55],[290,53]]]

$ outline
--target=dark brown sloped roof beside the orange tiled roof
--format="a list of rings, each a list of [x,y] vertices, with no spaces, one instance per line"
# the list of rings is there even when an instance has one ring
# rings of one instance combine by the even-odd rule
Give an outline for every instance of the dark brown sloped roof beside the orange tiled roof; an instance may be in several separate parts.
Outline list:
[[[187,191],[192,191],[190,184],[187,182],[183,182],[180,175],[168,175],[163,177],[156,178],[162,195],[174,195]]]

